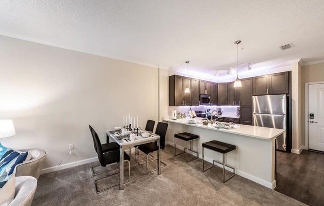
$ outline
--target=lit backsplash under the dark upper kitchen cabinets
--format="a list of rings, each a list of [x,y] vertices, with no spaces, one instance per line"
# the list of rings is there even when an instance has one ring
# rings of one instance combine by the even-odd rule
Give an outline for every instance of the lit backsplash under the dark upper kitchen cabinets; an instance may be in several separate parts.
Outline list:
[[[172,110],[175,109],[177,113],[178,112],[184,113],[188,117],[190,108],[192,110],[211,109],[212,111],[216,110],[216,108],[222,108],[222,113],[223,113],[222,115],[223,116],[237,116],[237,112],[240,111],[240,106],[208,106],[208,105],[200,105],[200,106],[169,106],[167,115],[171,116]]]

